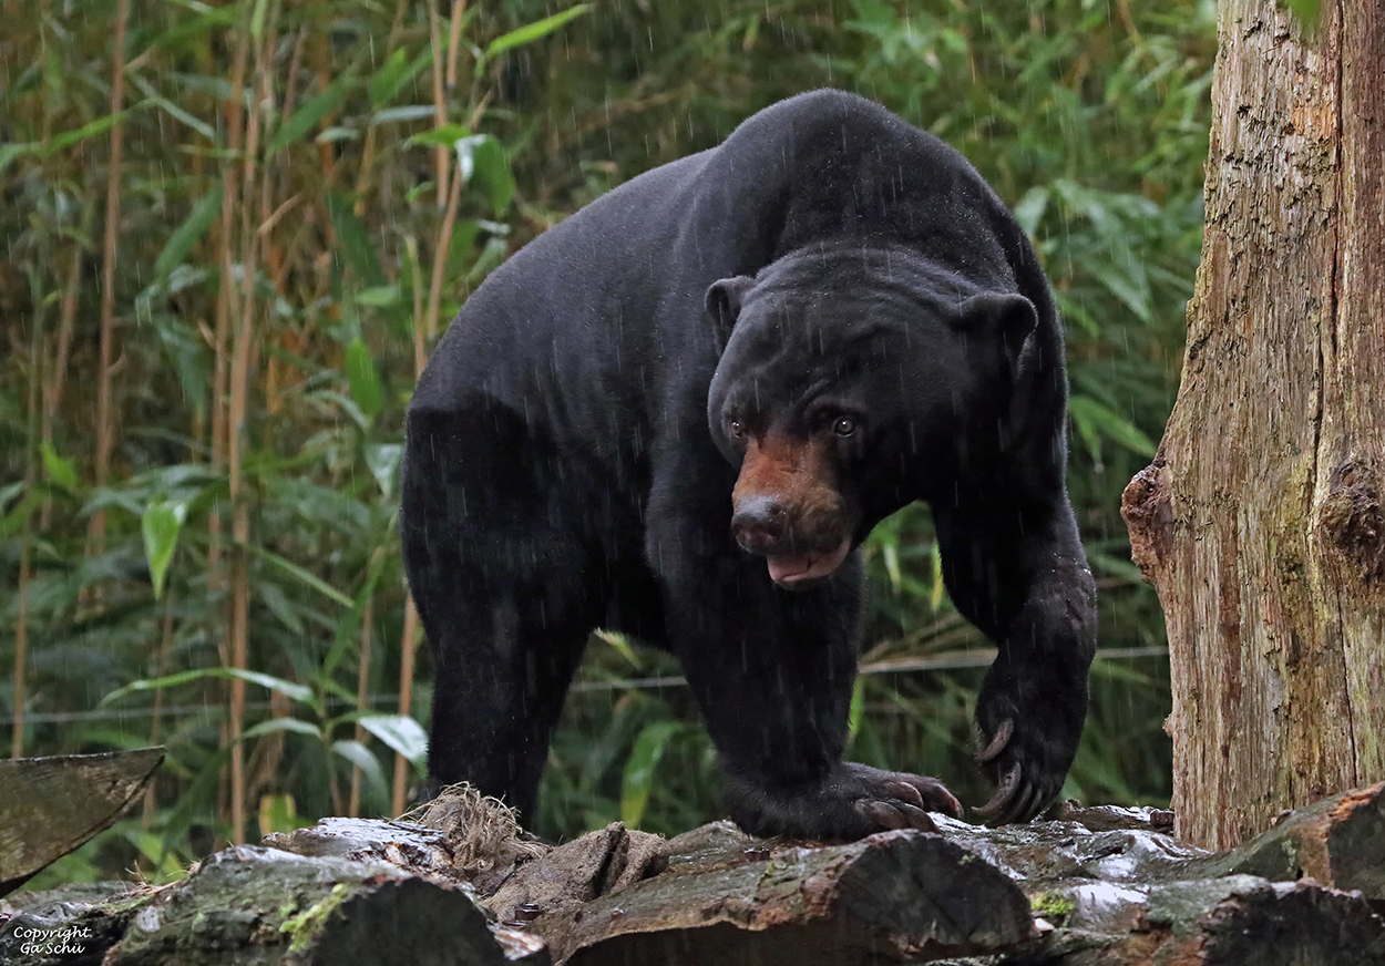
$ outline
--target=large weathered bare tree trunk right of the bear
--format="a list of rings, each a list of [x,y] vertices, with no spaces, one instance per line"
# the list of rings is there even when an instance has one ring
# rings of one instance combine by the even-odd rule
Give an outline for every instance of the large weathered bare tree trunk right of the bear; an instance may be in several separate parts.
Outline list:
[[[1173,673],[1177,832],[1385,778],[1385,3],[1220,10],[1177,404],[1126,489]]]

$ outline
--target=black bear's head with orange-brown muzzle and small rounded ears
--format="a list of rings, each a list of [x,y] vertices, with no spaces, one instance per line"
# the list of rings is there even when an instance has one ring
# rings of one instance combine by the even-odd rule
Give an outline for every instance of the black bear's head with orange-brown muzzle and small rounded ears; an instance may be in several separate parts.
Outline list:
[[[708,425],[731,531],[781,587],[834,573],[900,507],[1003,446],[1036,311],[902,248],[801,250],[713,282]]]

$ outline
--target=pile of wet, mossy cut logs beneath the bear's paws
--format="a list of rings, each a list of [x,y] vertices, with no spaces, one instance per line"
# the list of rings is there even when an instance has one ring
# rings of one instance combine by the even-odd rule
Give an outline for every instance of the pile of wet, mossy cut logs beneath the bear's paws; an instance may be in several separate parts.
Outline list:
[[[1219,854],[1152,810],[1000,829],[938,815],[936,835],[848,844],[614,823],[548,847],[475,796],[439,800],[229,848],[114,900],[15,894],[0,962],[1378,966],[1382,787]],[[44,955],[64,930],[68,951]]]

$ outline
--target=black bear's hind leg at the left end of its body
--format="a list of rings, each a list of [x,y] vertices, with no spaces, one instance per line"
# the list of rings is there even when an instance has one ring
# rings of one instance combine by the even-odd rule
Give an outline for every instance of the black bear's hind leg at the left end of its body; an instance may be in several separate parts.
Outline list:
[[[600,620],[564,468],[551,440],[490,400],[410,411],[399,529],[435,664],[429,778],[471,782],[522,822]]]

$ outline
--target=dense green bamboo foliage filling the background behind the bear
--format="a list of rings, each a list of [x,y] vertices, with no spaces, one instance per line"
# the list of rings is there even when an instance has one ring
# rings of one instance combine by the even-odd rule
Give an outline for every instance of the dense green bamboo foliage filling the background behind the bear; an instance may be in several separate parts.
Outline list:
[[[249,540],[237,549],[248,666],[266,675],[248,685],[245,745],[262,829],[341,811],[353,768],[360,810],[385,812],[393,751],[420,750],[395,703],[395,490],[435,262],[446,320],[507,253],[586,201],[827,84],[964,151],[1046,262],[1068,327],[1071,487],[1114,655],[1096,664],[1066,792],[1166,801],[1163,621],[1118,507],[1177,386],[1201,239],[1210,0],[607,0],[558,21],[546,18],[565,7],[544,0],[471,4],[440,126],[427,3],[133,0],[111,282],[118,441],[104,486],[93,453],[116,1],[0,6],[0,716],[12,720],[22,596],[25,753],[148,743],[155,700],[170,749],[145,817],[50,877],[134,862],[172,875],[229,833],[215,668],[227,664],[230,592],[208,559],[231,531],[227,469],[211,458],[216,239],[222,173],[241,162],[227,140],[231,51],[255,17],[271,42],[255,158],[269,205],[242,198],[233,230],[244,216],[263,239],[241,455]],[[445,42],[454,10],[439,11]],[[450,165],[471,176],[442,250],[434,148],[458,138]],[[101,508],[96,552],[87,522]],[[861,678],[852,754],[940,775],[979,803],[968,716],[985,642],[942,594],[927,512],[882,525],[866,555],[875,673]],[[366,639],[375,714],[357,731]],[[677,832],[720,814],[711,746],[666,681],[676,673],[594,638],[550,754],[540,833],[620,817]],[[177,677],[147,685],[161,675]]]

